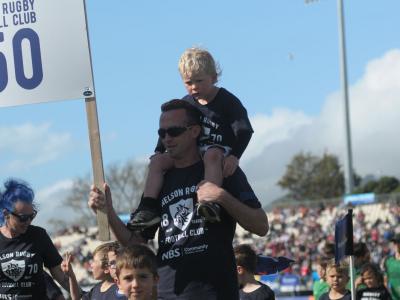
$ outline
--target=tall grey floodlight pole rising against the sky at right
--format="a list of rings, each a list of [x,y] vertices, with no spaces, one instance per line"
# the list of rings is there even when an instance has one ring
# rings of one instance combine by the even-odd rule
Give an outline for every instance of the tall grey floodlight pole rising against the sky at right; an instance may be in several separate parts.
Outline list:
[[[353,175],[353,155],[351,147],[349,90],[347,86],[347,60],[346,60],[343,0],[337,0],[337,9],[338,9],[338,22],[339,22],[340,79],[342,83],[342,96],[344,102],[344,120],[345,120],[345,132],[346,132],[345,186],[346,186],[346,194],[351,194],[354,187],[354,175]]]

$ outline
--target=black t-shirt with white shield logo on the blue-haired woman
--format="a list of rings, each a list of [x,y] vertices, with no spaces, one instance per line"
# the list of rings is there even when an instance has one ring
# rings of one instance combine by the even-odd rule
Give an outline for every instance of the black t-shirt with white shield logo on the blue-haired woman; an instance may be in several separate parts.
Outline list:
[[[7,238],[0,233],[0,299],[47,299],[43,265],[62,262],[46,231],[30,225],[24,234]]]

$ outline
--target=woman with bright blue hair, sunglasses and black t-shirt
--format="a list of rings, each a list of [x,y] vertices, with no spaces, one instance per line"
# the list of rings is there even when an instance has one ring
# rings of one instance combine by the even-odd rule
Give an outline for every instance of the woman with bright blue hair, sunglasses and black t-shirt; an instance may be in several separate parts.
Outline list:
[[[35,194],[23,181],[8,180],[0,192],[0,299],[47,299],[43,265],[69,291],[61,270],[62,257],[41,227]]]

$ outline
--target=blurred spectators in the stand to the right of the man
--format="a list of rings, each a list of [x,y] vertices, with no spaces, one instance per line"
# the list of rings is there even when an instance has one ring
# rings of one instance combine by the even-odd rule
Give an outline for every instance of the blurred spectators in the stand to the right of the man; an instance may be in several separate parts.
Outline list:
[[[274,208],[268,212],[267,239],[243,232],[237,243],[252,243],[258,253],[294,259],[296,263],[289,271],[301,276],[310,287],[315,278],[315,263],[324,247],[334,243],[335,222],[346,212],[346,207],[333,205]],[[353,213],[354,240],[366,243],[372,262],[381,264],[392,251],[391,238],[400,230],[398,202],[356,206]]]

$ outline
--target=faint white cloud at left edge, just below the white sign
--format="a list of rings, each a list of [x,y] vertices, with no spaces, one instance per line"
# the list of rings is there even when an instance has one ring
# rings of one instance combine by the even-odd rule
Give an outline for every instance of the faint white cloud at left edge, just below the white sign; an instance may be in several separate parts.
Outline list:
[[[2,172],[26,171],[59,158],[72,144],[72,138],[69,133],[51,129],[49,123],[0,127],[0,161],[5,160]]]

